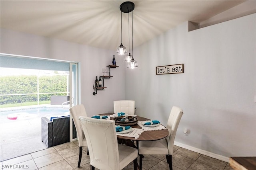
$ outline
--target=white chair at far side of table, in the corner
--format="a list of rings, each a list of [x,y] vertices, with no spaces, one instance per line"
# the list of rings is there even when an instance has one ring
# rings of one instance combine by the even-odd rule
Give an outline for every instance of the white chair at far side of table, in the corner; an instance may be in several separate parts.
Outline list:
[[[114,101],[114,113],[124,112],[128,115],[135,114],[134,100],[116,100]]]

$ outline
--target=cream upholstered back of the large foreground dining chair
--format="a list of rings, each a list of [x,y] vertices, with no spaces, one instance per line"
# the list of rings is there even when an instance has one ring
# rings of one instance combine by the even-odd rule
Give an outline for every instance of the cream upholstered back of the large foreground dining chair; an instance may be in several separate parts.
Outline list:
[[[119,170],[115,122],[80,117],[90,152],[90,164],[101,170]]]

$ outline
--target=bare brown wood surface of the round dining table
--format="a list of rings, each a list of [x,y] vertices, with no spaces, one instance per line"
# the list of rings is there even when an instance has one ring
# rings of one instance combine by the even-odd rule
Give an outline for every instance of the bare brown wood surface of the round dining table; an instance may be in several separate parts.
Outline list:
[[[112,115],[114,113],[102,113],[99,115]],[[151,120],[147,119],[145,117],[136,116],[138,121],[145,121],[145,120]],[[110,117],[110,120],[114,120],[113,117]],[[138,124],[130,125],[132,128],[138,128],[141,129],[141,127]],[[132,141],[156,141],[160,139],[164,139],[169,134],[169,131],[167,129],[164,130],[158,130],[158,131],[144,131],[138,139],[135,139],[134,137],[124,137],[117,135],[118,139],[124,139],[124,140],[132,140]]]

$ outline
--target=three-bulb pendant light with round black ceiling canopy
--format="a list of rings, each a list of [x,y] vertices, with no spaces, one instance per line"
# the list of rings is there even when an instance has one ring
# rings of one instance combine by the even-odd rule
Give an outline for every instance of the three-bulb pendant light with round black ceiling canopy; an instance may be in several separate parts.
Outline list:
[[[120,47],[118,47],[116,53],[117,54],[121,54],[121,55],[124,55],[124,54],[127,54],[125,59],[124,59],[124,62],[128,63],[128,67],[127,68],[138,68],[138,64],[137,62],[133,59],[133,13],[132,13],[132,54],[130,53],[130,12],[132,12],[134,10],[134,3],[133,2],[123,2],[121,5],[120,5],[120,11],[121,11],[121,45]],[[124,13],[128,13],[128,39],[129,39],[129,53],[120,53],[119,49],[121,47],[124,47],[122,45],[122,12]],[[125,48],[125,47],[124,47]],[[124,51],[124,50],[123,50]],[[125,50],[126,51],[126,50]]]

